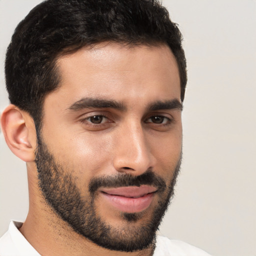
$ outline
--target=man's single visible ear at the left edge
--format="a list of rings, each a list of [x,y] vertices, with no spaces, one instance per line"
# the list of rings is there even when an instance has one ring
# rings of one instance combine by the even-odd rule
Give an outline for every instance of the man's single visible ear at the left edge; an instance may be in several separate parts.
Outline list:
[[[13,104],[8,105],[1,114],[1,129],[12,153],[25,162],[34,160],[36,131],[27,112]]]

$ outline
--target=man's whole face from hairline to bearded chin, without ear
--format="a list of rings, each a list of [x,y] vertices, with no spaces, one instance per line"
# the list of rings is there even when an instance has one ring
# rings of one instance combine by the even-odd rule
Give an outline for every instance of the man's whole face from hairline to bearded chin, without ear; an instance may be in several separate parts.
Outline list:
[[[178,68],[165,45],[99,44],[59,58],[36,164],[47,203],[114,250],[147,247],[181,159]]]

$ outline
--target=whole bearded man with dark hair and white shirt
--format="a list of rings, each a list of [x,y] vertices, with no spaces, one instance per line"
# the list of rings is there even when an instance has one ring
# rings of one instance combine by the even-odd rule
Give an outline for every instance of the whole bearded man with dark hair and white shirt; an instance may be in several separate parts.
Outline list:
[[[186,63],[154,0],[47,0],[8,46],[1,127],[29,211],[0,255],[207,255],[156,236],[181,162]]]

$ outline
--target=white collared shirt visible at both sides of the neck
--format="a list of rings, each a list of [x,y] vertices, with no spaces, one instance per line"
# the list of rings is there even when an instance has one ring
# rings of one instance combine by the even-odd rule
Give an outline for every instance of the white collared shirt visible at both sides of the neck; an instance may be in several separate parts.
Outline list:
[[[0,256],[40,256],[19,232],[22,222],[11,221],[8,231],[0,238]],[[205,251],[179,240],[157,236],[153,256],[209,256]]]

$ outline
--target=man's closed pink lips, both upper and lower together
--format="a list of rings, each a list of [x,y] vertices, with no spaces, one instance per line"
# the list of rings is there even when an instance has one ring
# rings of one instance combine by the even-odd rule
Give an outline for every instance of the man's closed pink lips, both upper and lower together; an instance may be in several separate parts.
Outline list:
[[[100,189],[102,197],[114,208],[122,212],[140,212],[149,207],[154,192],[153,186],[124,186]]]

